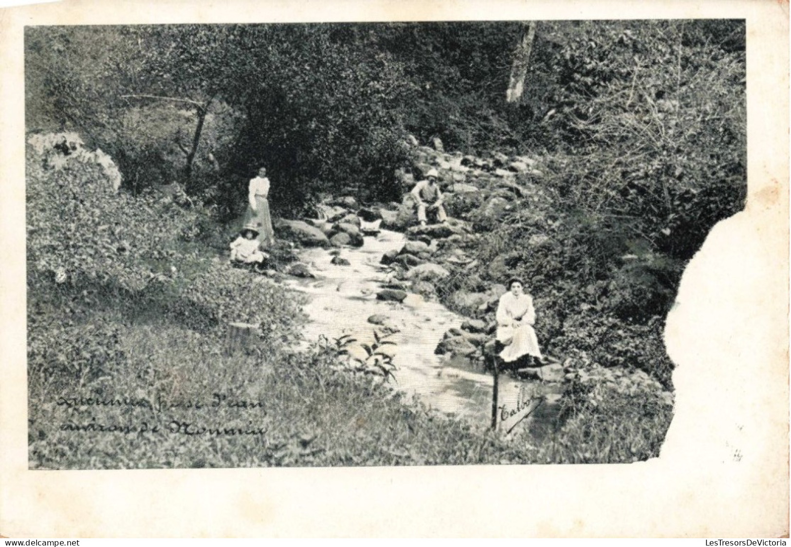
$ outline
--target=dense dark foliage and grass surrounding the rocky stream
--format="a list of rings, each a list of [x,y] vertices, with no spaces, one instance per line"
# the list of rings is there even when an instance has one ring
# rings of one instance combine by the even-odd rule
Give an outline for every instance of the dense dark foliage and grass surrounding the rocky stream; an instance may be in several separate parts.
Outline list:
[[[515,180],[529,196],[448,196],[448,212],[479,234],[465,247],[478,261],[437,293],[482,292],[523,275],[548,353],[579,367],[641,369],[668,388],[663,318],[681,272],[713,224],[744,203],[744,22],[535,28],[515,103],[505,101],[505,88],[525,29],[517,22],[27,28],[28,132],[75,131],[123,177],[116,192],[102,165],[51,165],[28,150],[32,461],[339,465],[655,455],[669,411],[650,382],[634,393],[573,382],[562,435],[538,450],[505,446],[399,401],[380,404],[386,389],[332,370],[326,352],[288,349],[300,302],[274,283],[229,272],[211,249],[227,245],[218,221],[238,218],[259,165],[270,171],[274,215],[297,216],[326,193],[362,205],[400,201],[399,169],[411,169],[418,150],[407,145],[410,135],[424,144],[439,137],[463,154],[528,154],[540,171]],[[262,327],[263,358],[218,354],[229,320]],[[258,417],[277,435],[263,450],[240,439],[184,444],[171,435],[149,443],[149,433],[145,442],[124,437],[123,450],[106,435],[76,446],[52,426],[87,412],[52,402],[75,390],[104,397],[115,386],[153,400],[212,385],[235,386],[239,397],[267,393],[272,406]],[[351,408],[378,423],[342,431],[339,420],[358,416]],[[293,422],[274,420],[276,409]],[[334,431],[331,442],[323,429]],[[321,450],[312,448],[314,434]],[[404,443],[407,450],[397,447]],[[53,446],[61,446],[57,454]]]

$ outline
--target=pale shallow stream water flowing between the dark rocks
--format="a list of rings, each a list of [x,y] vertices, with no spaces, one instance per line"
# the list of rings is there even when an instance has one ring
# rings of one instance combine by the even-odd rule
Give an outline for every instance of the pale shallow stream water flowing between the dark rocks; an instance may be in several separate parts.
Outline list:
[[[476,427],[489,427],[492,405],[492,375],[468,359],[448,359],[434,355],[434,349],[450,328],[459,328],[464,317],[452,313],[438,302],[426,301],[419,294],[409,294],[403,302],[377,300],[383,284],[392,280],[388,268],[380,264],[382,255],[391,249],[401,249],[406,242],[403,234],[382,230],[377,237],[365,237],[361,248],[342,249],[339,256],[350,265],[331,264],[332,255],[327,249],[310,248],[300,252],[300,260],[311,268],[316,279],[291,279],[288,285],[308,294],[310,302],[304,311],[310,319],[305,326],[307,340],[329,339],[344,334],[369,333],[374,325],[368,322],[373,314],[384,314],[399,332],[390,340],[398,344],[393,358],[395,389],[417,397],[429,408],[448,415],[458,416]],[[540,424],[522,426],[538,432],[539,436],[551,431],[557,412],[559,386],[541,382],[521,382],[506,375],[500,376],[500,405],[514,408],[520,389],[529,393],[541,390],[545,400],[534,415],[543,416]],[[547,389],[549,388],[549,389]],[[524,394],[523,394],[524,397]]]

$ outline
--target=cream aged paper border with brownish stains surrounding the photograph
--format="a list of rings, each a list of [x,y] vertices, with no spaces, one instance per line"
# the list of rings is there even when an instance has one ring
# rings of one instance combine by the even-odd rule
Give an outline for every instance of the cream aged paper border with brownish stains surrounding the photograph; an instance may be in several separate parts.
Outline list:
[[[28,471],[24,25],[698,17],[747,19],[749,196],[747,210],[718,225],[687,268],[668,319],[677,405],[660,458],[587,466]],[[0,534],[787,537],[788,21],[788,3],[775,0],[85,1],[0,10]]]

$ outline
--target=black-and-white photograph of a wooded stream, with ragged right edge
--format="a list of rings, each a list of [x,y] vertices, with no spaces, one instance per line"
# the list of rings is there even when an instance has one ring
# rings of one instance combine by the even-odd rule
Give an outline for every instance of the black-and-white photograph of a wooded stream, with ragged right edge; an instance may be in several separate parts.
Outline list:
[[[33,469],[626,463],[732,20],[25,30]]]

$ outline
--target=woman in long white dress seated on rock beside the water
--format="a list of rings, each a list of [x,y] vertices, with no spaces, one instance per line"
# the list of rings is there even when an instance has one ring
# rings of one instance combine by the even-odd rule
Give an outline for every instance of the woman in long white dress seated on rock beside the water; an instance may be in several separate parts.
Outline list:
[[[505,363],[519,360],[527,361],[525,366],[529,366],[532,364],[529,356],[532,356],[543,364],[539,341],[533,330],[536,323],[533,298],[524,294],[524,283],[519,278],[509,279],[508,288],[509,292],[500,297],[497,309],[497,340],[505,346],[500,357]]]

